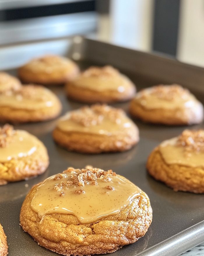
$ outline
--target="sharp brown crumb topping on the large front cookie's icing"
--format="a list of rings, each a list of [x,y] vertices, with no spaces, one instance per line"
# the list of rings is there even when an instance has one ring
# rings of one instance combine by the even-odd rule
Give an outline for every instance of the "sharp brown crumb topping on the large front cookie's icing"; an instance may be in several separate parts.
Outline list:
[[[68,173],[71,173],[70,177],[68,177]],[[104,183],[108,183],[112,181],[112,176],[116,176],[116,173],[112,170],[103,171],[91,166],[86,166],[85,169],[81,170],[69,167],[62,174],[54,177],[53,180],[59,180],[59,183],[54,186],[54,189],[60,192],[60,196],[64,196],[66,190],[71,186],[74,186],[76,188],[75,193],[80,195],[85,193],[85,190],[83,190],[85,185],[98,185],[98,179]],[[67,178],[67,180],[60,181],[62,178]],[[108,190],[115,190],[115,188],[110,185],[106,185],[105,188]]]

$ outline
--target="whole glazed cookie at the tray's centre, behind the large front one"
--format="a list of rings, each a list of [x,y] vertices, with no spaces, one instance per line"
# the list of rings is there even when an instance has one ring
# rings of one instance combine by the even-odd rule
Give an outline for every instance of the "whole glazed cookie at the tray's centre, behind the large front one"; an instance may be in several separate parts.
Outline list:
[[[122,109],[96,104],[61,117],[53,138],[67,150],[117,152],[133,147],[139,141],[139,131]]]

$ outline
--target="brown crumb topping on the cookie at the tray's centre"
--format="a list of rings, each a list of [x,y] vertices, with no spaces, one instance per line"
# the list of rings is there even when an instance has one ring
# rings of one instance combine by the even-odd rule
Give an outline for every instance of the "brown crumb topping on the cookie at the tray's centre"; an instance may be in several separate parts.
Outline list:
[[[70,119],[81,124],[82,126],[99,125],[104,117],[110,119],[114,123],[121,123],[121,118],[124,116],[122,109],[115,109],[105,104],[95,104],[91,107],[84,106],[77,111],[72,111]]]

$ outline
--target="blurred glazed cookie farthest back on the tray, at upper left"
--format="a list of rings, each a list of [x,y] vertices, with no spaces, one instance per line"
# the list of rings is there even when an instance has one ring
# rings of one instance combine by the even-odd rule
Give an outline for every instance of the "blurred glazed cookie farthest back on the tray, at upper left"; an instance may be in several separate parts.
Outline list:
[[[18,69],[18,75],[24,83],[42,85],[64,84],[78,73],[79,68],[73,61],[57,55],[32,59]]]

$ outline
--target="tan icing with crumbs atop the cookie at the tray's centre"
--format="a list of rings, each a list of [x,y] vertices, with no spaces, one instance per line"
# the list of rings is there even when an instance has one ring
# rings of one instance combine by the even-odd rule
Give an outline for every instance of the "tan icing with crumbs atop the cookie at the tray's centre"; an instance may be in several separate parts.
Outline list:
[[[98,111],[101,108],[101,111]],[[76,116],[76,117],[75,117]],[[68,112],[60,118],[57,127],[65,132],[75,131],[99,135],[119,134],[134,123],[120,109],[93,105]]]

